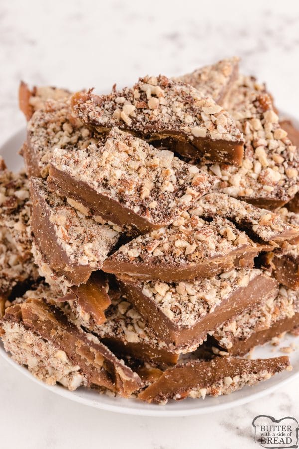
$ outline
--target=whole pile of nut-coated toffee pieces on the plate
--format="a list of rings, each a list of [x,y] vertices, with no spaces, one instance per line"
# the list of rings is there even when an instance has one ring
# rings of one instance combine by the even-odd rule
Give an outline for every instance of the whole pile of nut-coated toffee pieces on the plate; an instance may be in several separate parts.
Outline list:
[[[100,96],[21,83],[0,336],[37,378],[164,404],[291,369],[246,354],[299,326],[299,132],[238,62]]]

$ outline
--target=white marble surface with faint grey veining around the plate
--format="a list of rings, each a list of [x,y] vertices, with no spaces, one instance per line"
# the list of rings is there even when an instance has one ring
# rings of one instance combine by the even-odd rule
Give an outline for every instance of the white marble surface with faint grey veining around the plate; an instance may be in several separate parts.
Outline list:
[[[299,117],[298,1],[1,1],[0,144],[24,126],[17,108],[20,79],[104,92],[114,82],[122,86],[146,73],[178,75],[235,54],[244,71],[267,81],[279,108]],[[298,404],[293,381],[212,416],[122,416],[53,395],[0,360],[3,449],[254,448],[252,419],[298,419]]]

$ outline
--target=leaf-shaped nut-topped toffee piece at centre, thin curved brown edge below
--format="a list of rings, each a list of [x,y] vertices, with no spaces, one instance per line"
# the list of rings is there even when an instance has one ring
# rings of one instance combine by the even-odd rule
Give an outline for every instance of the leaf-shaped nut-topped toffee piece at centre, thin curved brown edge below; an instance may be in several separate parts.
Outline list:
[[[209,222],[192,215],[121,246],[105,260],[103,271],[166,282],[190,280],[233,267],[252,267],[254,257],[269,249],[251,241],[225,218]]]

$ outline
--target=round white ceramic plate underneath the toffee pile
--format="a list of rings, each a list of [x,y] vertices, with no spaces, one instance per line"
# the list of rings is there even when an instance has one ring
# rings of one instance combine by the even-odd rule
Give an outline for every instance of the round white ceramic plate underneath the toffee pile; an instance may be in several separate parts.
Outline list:
[[[22,158],[17,154],[25,139],[25,131],[22,130],[9,139],[1,148],[0,154],[3,155],[8,168],[18,170],[23,165]],[[288,346],[299,341],[295,337],[288,336],[282,342],[281,346]],[[283,355],[278,348],[273,351],[273,346],[267,344],[254,351],[254,358],[277,357]],[[89,405],[98,409],[108,410],[112,412],[130,414],[130,415],[147,415],[147,416],[187,416],[200,415],[205,413],[216,412],[231,407],[235,407],[254,399],[265,396],[277,388],[285,385],[295,377],[299,377],[299,350],[290,355],[293,371],[280,373],[268,381],[260,382],[253,387],[245,387],[240,391],[232,393],[229,396],[219,396],[218,398],[206,397],[202,399],[185,399],[184,401],[169,401],[165,406],[151,405],[142,403],[135,399],[114,398],[107,395],[100,395],[96,391],[79,388],[74,392],[70,392],[61,386],[49,386],[37,380],[29,371],[17,365],[10,356],[4,351],[2,343],[0,343],[0,355],[7,360],[12,366],[29,377],[33,381],[39,383],[44,388],[56,393],[57,395]]]

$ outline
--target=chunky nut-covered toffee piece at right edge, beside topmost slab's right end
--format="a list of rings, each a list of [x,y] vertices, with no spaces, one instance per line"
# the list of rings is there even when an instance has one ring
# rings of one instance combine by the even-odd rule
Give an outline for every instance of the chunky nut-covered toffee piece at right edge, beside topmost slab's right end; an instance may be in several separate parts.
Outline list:
[[[299,150],[281,127],[272,98],[250,78],[240,76],[227,107],[244,133],[242,166],[205,162],[198,166],[220,178],[223,193],[265,209],[283,206],[299,188]]]

